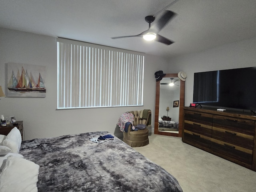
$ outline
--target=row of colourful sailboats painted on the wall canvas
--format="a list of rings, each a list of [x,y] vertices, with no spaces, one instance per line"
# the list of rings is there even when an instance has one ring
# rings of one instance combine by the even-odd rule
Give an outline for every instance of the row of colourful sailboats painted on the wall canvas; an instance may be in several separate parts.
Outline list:
[[[36,82],[34,80],[34,77],[32,76],[32,73],[30,72],[30,75],[29,75],[27,70],[25,72],[23,66],[22,66],[21,75],[18,69],[17,77],[14,75],[14,72],[12,70],[12,75],[8,82],[7,88],[12,91],[21,91],[21,92],[30,92],[30,91],[46,92],[46,88],[44,86],[44,80],[42,79],[41,74],[39,73],[38,81]]]

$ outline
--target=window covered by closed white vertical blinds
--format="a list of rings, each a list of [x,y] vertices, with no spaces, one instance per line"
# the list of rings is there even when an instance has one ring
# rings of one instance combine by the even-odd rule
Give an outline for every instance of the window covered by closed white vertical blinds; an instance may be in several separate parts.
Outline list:
[[[144,54],[57,38],[58,109],[143,105]]]

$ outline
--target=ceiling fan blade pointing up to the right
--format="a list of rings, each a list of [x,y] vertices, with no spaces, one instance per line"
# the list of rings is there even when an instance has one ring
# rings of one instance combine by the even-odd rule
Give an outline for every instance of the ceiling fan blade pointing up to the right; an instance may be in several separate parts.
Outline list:
[[[176,15],[176,13],[170,10],[164,10],[162,16],[157,19],[153,24],[150,26],[150,32],[154,32],[158,34],[162,28],[166,26],[166,24]]]

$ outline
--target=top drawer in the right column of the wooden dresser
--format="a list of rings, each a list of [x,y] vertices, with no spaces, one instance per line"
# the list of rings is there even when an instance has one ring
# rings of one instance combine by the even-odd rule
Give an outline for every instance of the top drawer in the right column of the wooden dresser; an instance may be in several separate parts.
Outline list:
[[[255,121],[214,115],[212,126],[254,136]]]

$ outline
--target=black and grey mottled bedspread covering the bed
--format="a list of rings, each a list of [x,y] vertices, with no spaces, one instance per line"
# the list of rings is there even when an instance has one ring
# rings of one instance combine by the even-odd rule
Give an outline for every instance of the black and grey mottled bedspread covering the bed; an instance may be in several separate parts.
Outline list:
[[[19,154],[40,166],[38,192],[182,192],[174,176],[115,137],[89,132],[22,141]]]

